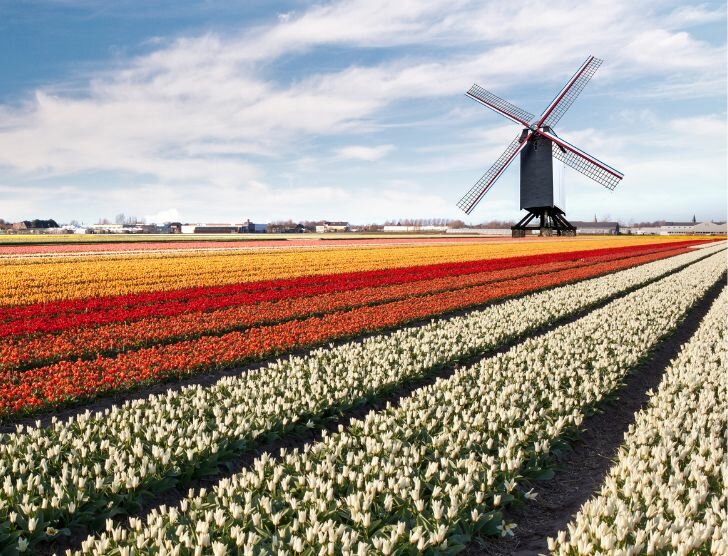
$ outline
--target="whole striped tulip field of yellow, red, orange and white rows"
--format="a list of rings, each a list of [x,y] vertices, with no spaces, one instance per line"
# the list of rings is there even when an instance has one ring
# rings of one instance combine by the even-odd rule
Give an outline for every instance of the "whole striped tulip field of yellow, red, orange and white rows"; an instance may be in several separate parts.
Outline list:
[[[564,446],[713,297],[543,551],[726,554],[726,247],[2,245],[0,554],[517,539]]]

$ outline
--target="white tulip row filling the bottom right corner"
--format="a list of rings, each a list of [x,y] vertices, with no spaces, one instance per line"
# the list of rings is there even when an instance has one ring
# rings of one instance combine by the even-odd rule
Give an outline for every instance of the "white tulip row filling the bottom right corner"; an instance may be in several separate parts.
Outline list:
[[[728,289],[625,435],[601,492],[549,549],[561,555],[728,554]]]

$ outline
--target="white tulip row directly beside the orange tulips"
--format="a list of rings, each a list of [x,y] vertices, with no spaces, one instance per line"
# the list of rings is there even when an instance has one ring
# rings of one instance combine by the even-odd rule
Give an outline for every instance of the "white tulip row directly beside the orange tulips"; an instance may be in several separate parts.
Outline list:
[[[170,488],[261,436],[284,434],[465,355],[482,352],[714,251],[673,257],[464,317],[279,360],[213,386],[87,412],[0,437],[0,547],[35,544]],[[530,315],[530,318],[523,318]]]

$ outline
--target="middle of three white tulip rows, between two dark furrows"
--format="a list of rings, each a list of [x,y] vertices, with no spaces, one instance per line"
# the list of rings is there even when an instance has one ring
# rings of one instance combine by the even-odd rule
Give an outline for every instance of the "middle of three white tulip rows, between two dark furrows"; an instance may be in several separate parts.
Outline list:
[[[512,533],[499,509],[725,273],[723,255],[161,506],[110,521],[83,553],[393,554],[456,551]],[[464,338],[463,338],[464,339]],[[462,341],[458,340],[458,341]],[[419,338],[427,343],[429,338]]]

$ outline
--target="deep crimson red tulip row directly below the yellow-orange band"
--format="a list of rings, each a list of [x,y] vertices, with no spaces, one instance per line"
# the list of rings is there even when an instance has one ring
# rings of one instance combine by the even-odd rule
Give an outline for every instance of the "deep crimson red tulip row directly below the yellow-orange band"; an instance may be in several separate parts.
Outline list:
[[[5,307],[0,308],[0,321],[3,321],[0,323],[0,337],[54,332],[111,322],[131,322],[147,317],[170,317],[242,304],[353,291],[544,263],[595,260],[597,257],[612,259],[619,256],[670,251],[693,243],[676,242],[669,245],[594,249]]]

